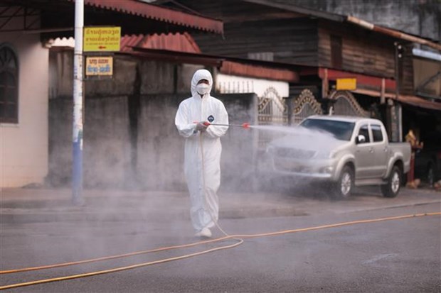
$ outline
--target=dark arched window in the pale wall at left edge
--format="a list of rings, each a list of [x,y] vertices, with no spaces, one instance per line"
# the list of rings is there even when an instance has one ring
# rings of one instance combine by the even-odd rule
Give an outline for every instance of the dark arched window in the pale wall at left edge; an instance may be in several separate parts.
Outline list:
[[[18,62],[7,45],[0,45],[0,122],[18,123]]]

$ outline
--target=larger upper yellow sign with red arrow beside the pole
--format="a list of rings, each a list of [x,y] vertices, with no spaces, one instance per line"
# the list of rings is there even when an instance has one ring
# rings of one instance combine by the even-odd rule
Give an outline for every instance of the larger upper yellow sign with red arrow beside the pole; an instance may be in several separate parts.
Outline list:
[[[121,28],[118,26],[84,28],[83,51],[85,52],[119,51],[120,42]]]

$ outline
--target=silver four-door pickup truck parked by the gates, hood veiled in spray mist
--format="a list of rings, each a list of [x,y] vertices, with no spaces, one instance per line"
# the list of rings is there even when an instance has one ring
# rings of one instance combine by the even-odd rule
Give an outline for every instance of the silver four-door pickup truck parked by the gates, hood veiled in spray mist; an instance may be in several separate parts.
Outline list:
[[[347,116],[310,116],[267,148],[272,173],[322,180],[337,199],[354,186],[380,185],[396,197],[410,168],[410,144],[389,143],[383,123]]]

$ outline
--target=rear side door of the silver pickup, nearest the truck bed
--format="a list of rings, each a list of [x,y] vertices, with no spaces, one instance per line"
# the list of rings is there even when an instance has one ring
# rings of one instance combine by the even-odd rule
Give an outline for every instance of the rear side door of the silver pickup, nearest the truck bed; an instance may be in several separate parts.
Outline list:
[[[383,135],[381,125],[371,124],[372,131],[372,148],[375,156],[375,165],[373,166],[373,175],[375,177],[383,177],[386,175],[388,163],[388,143],[386,136]]]

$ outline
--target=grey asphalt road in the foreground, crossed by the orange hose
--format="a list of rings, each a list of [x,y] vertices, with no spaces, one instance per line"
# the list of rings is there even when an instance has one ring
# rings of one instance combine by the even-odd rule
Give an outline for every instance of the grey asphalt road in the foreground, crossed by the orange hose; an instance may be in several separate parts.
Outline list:
[[[359,219],[440,212],[440,204],[344,214],[224,219],[229,233],[262,233]],[[1,224],[1,270],[192,243],[184,221]],[[185,260],[9,292],[441,292],[441,218],[363,223],[245,239]],[[215,236],[220,237],[217,233]],[[0,275],[1,285],[184,255],[234,241],[86,265]]]

